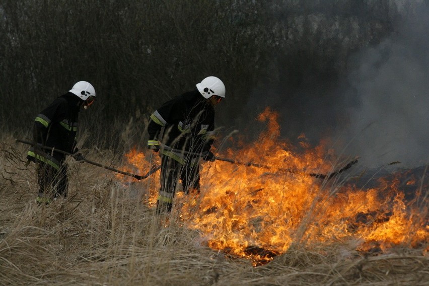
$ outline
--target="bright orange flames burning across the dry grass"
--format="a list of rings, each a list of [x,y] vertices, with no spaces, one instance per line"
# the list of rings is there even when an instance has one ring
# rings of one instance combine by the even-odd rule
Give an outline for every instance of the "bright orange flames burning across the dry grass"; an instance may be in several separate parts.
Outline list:
[[[342,164],[324,147],[328,142],[310,148],[304,135],[299,147],[280,140],[277,118],[278,114],[267,108],[258,117],[267,122],[258,139],[249,146],[239,141],[241,149],[224,154],[270,168],[220,160],[204,163],[199,196],[176,195],[176,210],[184,224],[197,230],[209,247],[259,265],[284,253],[293,243],[358,238],[362,241],[358,249],[364,251],[375,246],[387,251],[395,245],[427,245],[427,204],[418,208],[406,205],[399,178],[357,189],[335,177],[322,180],[311,176],[330,173]],[[133,166],[144,166],[140,171],[150,166],[145,155],[136,151],[128,153],[127,159]],[[155,200],[157,182],[151,191]]]

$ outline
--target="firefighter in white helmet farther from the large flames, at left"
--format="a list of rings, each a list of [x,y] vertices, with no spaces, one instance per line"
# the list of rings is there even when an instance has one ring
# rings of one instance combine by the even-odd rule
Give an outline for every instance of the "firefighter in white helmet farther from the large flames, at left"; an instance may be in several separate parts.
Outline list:
[[[78,115],[81,108],[87,109],[94,100],[94,87],[81,81],[37,114],[33,125],[33,137],[37,145],[32,146],[27,153],[27,159],[37,164],[37,203],[48,204],[59,196],[67,196],[65,155],[55,150],[73,154],[77,161],[84,160],[76,147]],[[44,146],[53,150],[44,149]]]

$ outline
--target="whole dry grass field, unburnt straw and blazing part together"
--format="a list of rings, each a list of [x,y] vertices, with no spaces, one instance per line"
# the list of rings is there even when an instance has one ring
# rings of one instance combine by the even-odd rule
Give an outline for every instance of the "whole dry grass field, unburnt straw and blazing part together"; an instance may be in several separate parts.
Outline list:
[[[308,174],[329,174],[349,158],[304,141],[299,152],[278,139],[274,115],[261,115],[268,128],[251,147],[222,154],[272,168],[204,164],[201,195],[179,192],[167,222],[152,207],[159,173],[137,182],[73,160],[69,197],[36,205],[26,147],[6,139],[0,284],[427,283],[427,171],[364,187],[348,172],[315,178]],[[157,163],[148,156],[128,153],[127,171],[145,174]],[[120,166],[108,150],[90,160],[112,157]]]

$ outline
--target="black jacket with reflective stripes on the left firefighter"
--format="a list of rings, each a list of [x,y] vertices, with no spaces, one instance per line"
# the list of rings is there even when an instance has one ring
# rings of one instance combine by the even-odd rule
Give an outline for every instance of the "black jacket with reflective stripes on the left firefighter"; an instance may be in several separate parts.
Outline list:
[[[57,97],[48,107],[37,114],[34,120],[34,141],[56,150],[74,153],[76,151],[76,133],[78,115],[82,100],[73,93]],[[43,161],[54,167],[64,160],[65,155],[46,150],[46,154],[35,153],[31,148],[27,158],[36,162]]]

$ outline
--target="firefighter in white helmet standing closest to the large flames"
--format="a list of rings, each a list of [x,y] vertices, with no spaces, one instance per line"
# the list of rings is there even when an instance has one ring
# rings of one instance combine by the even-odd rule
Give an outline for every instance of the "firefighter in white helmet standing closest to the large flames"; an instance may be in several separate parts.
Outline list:
[[[215,140],[216,104],[225,98],[225,85],[207,77],[196,89],[164,103],[148,125],[148,148],[161,156],[161,188],[157,213],[169,212],[177,182],[183,191],[199,193],[199,161],[215,161],[210,147]]]

